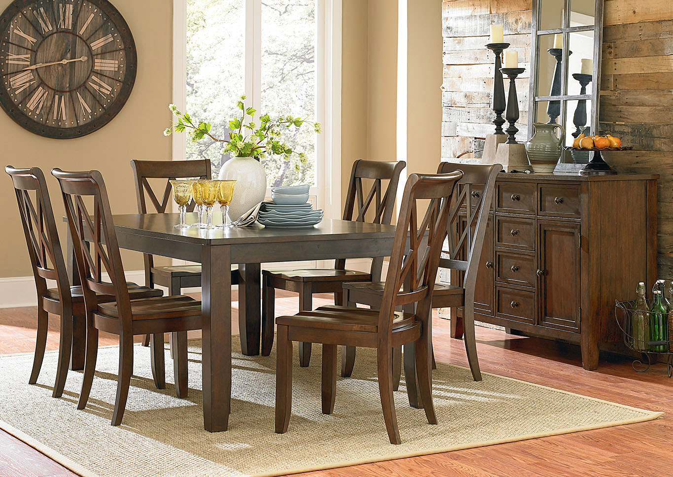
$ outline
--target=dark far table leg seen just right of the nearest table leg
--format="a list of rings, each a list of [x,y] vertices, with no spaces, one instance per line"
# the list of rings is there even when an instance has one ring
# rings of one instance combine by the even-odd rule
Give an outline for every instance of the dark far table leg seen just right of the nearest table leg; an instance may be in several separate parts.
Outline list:
[[[259,355],[262,326],[262,266],[246,263],[238,266],[238,329],[241,351],[246,356]]]

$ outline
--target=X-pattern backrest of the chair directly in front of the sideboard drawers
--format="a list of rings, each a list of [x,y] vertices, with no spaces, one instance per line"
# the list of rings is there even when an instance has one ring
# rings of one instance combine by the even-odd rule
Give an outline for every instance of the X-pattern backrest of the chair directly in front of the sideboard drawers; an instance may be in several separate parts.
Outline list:
[[[444,250],[448,257],[440,258],[439,266],[465,272],[463,287],[468,294],[474,293],[479,257],[484,245],[489,211],[493,204],[495,181],[502,169],[500,164],[451,162],[442,162],[437,168],[439,174],[455,170],[463,173],[456,184],[449,212],[448,250]]]

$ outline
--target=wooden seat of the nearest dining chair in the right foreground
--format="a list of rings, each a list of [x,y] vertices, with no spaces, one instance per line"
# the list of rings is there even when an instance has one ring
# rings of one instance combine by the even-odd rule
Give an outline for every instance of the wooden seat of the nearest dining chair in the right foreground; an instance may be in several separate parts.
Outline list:
[[[327,305],[313,311],[301,311],[293,316],[279,316],[276,318],[276,324],[322,330],[376,333],[378,316],[379,312],[373,309]],[[392,330],[404,328],[415,321],[414,314],[396,311]]]

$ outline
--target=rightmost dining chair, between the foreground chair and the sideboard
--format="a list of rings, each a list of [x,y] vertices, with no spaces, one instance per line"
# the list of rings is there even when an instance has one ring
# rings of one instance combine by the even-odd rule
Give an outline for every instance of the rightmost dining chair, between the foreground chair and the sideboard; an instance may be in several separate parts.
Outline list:
[[[452,198],[452,205],[448,211],[448,237],[444,254],[439,258],[440,268],[456,270],[460,283],[446,285],[437,283],[433,289],[432,307],[463,307],[463,316],[452,316],[454,326],[464,331],[465,349],[470,363],[470,370],[474,381],[481,381],[479,358],[476,353],[476,338],[474,336],[474,286],[481,267],[491,268],[493,263],[481,264],[481,251],[489,221],[489,211],[495,193],[495,180],[502,170],[500,164],[476,165],[442,162],[437,168],[438,174],[447,174],[455,170],[463,173],[456,185],[456,193]],[[446,255],[446,257],[444,256]],[[355,306],[355,303],[378,308],[382,303],[384,283],[357,282],[345,283],[344,294],[346,303]],[[454,313],[454,315],[456,315]],[[455,328],[454,328],[455,329]],[[345,353],[345,369],[353,370],[355,349]],[[405,361],[405,364],[409,361]],[[405,367],[405,372],[411,368]],[[395,376],[399,383],[399,376]]]

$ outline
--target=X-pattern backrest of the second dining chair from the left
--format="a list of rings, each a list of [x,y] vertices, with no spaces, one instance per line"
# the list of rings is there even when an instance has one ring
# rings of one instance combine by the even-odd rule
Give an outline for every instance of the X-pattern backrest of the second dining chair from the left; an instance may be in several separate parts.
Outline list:
[[[113,295],[122,326],[131,326],[129,289],[103,176],[98,171],[65,172],[58,168],[51,174],[61,185],[87,311],[98,305],[96,293]],[[102,280],[104,272],[109,283]]]

